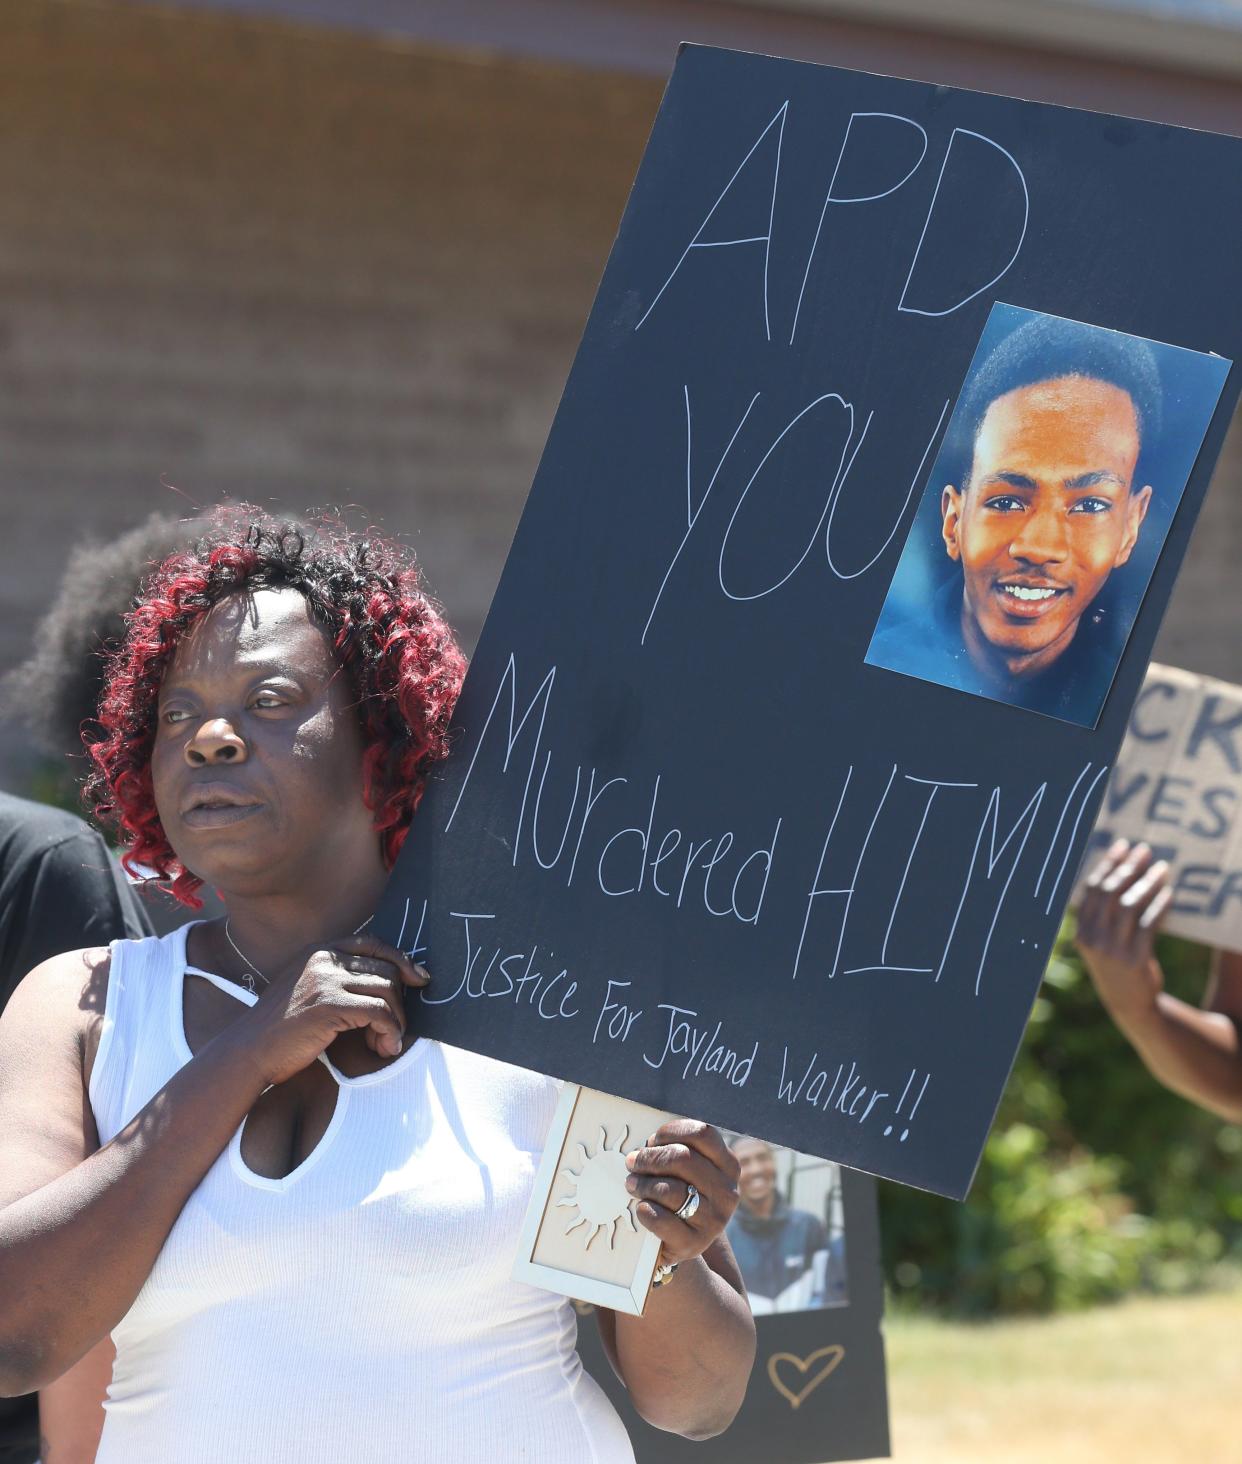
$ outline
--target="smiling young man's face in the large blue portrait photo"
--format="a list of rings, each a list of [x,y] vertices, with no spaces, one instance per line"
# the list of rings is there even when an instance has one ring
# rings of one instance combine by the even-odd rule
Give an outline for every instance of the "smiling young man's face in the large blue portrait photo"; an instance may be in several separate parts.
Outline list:
[[[1138,539],[1151,499],[1134,489],[1138,449],[1134,401],[1110,382],[1062,376],[989,406],[970,483],[940,499],[975,662],[1021,676],[1068,649]]]

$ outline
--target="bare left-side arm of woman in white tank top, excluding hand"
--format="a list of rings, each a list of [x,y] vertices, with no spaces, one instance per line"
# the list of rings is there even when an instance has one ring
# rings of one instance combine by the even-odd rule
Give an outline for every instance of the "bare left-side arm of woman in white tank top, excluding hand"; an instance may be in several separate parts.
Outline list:
[[[187,1196],[265,1088],[230,1028],[98,1148],[81,1007],[107,952],[38,966],[0,1019],[0,1394],[72,1367],[129,1310]]]

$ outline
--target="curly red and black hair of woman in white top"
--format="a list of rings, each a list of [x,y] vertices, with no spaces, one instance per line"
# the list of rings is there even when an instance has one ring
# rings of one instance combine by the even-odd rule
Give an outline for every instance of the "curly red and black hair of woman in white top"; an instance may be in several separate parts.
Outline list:
[[[350,676],[363,733],[363,796],[391,867],[428,769],[448,751],[466,657],[422,591],[413,555],[340,520],[281,521],[242,504],[145,581],[108,656],[97,723],[83,733],[92,770],[83,795],[126,845],[130,873],[170,881],[198,908],[202,883],[183,868],[155,808],[151,750],[160,685],[186,632],[220,600],[291,587],[310,605]]]

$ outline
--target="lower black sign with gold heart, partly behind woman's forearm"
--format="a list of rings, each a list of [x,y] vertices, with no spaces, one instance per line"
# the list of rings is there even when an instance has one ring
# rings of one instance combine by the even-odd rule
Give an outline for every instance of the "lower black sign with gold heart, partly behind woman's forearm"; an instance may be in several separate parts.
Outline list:
[[[808,1228],[808,1212],[823,1225],[825,1265],[803,1263],[792,1236],[784,1243],[763,1236],[747,1246],[740,1206],[729,1234],[743,1262],[759,1348],[745,1401],[725,1433],[697,1444],[643,1423],[603,1353],[590,1307],[579,1306],[579,1353],[621,1414],[637,1464],[829,1464],[889,1452],[874,1181],[836,1165],[816,1167],[789,1151],[776,1151],[775,1158],[785,1214],[801,1221],[797,1240]],[[775,1285],[765,1250],[778,1249],[789,1274],[784,1301],[766,1296]]]

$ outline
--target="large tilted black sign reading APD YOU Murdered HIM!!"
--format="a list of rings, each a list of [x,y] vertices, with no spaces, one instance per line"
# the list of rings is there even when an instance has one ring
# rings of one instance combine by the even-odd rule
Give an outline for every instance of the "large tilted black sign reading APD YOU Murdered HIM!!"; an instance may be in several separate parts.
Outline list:
[[[1142,479],[1132,357],[1242,348],[1241,177],[1235,139],[681,53],[381,915],[417,1029],[965,1192],[1236,398]],[[1138,384],[1053,341],[955,410],[997,302],[1137,343]],[[929,490],[951,654],[1085,650],[1097,717],[867,665]]]

